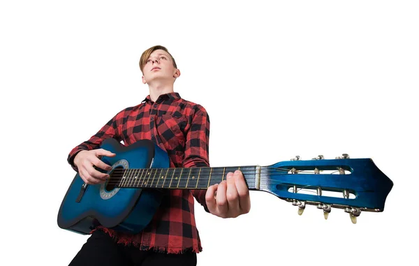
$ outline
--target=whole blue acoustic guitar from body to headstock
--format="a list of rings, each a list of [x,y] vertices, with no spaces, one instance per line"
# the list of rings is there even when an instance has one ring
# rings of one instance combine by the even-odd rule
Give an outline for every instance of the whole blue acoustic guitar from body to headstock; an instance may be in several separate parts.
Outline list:
[[[110,138],[101,148],[116,154],[101,158],[112,166],[110,178],[104,184],[88,185],[76,174],[59,208],[59,228],[87,235],[101,224],[137,233],[151,221],[164,189],[207,189],[237,169],[249,190],[292,202],[299,214],[306,205],[315,205],[327,219],[332,208],[339,208],[353,223],[362,211],[383,212],[393,186],[372,159],[346,154],[308,161],[297,156],[269,166],[170,168],[168,154],[150,140],[125,147]]]

